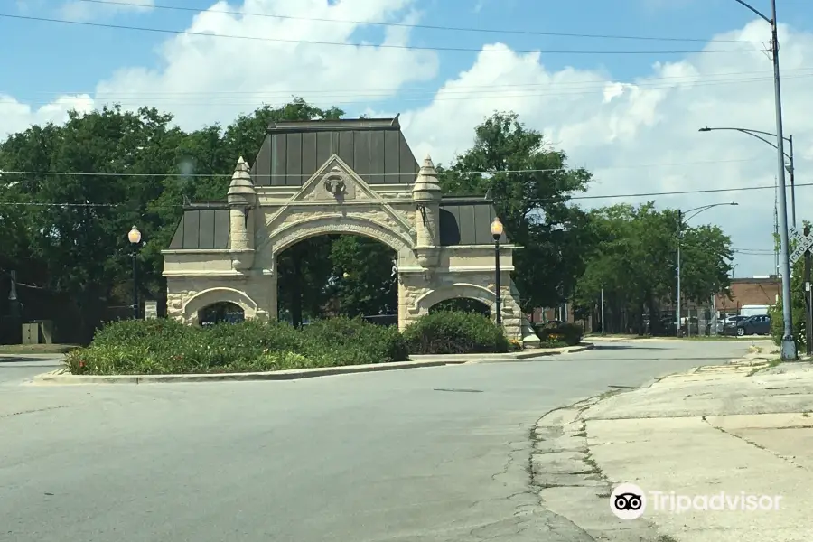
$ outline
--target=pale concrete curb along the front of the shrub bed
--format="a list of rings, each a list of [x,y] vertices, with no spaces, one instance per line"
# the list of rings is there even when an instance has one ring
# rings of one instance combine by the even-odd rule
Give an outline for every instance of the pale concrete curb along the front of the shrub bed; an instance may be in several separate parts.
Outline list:
[[[238,382],[256,380],[296,380],[299,378],[328,377],[362,372],[384,370],[421,369],[424,367],[441,367],[444,365],[461,365],[465,360],[443,361],[397,361],[374,365],[346,365],[344,367],[325,367],[316,369],[286,369],[254,373],[220,373],[193,375],[72,375],[66,369],[52,370],[37,375],[31,381],[33,385],[83,385],[83,384],[160,384],[177,382]]]

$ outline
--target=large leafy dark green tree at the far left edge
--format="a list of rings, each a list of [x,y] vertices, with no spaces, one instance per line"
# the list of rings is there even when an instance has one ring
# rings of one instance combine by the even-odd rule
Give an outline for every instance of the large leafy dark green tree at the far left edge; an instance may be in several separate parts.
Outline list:
[[[33,126],[0,148],[3,169],[55,172],[25,174],[15,185],[31,203],[23,222],[32,229],[36,264],[23,275],[71,295],[85,338],[129,276],[127,231],[144,223],[145,237],[152,233],[146,208],[163,190],[164,167],[180,135],[171,120],[147,107],[71,112],[64,126]]]

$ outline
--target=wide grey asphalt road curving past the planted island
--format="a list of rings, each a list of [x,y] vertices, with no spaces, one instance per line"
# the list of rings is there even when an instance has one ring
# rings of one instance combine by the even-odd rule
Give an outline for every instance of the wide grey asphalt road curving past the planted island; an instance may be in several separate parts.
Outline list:
[[[21,386],[49,369],[2,363],[0,539],[580,541],[528,491],[537,419],[746,348],[612,343],[541,361],[93,387]]]

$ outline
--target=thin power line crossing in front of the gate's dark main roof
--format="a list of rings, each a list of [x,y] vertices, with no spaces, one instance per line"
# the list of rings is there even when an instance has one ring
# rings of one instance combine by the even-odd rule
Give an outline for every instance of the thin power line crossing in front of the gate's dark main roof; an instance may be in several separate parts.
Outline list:
[[[731,164],[739,162],[755,162],[762,160],[762,158],[740,158],[733,160],[706,160],[696,162],[672,162],[668,164],[633,164],[633,165],[616,165],[611,167],[597,168],[599,170],[614,170],[614,169],[645,169],[649,167],[671,167],[683,165],[699,165],[699,164]],[[497,173],[558,173],[578,169],[580,166],[575,167],[559,167],[559,168],[546,168],[546,169],[522,169],[522,170],[500,170],[500,171],[444,171],[438,172],[438,175],[494,175]],[[37,171],[14,171],[14,170],[0,170],[0,177],[3,175],[57,175],[65,177],[182,177],[182,178],[195,178],[195,177],[231,177],[234,173],[125,173],[125,172],[37,172]],[[365,175],[373,177],[387,177],[387,176],[402,176],[401,173],[364,173]],[[310,178],[313,173],[255,173],[254,177],[267,179],[269,177],[304,177]],[[795,186],[802,186],[796,184]]]

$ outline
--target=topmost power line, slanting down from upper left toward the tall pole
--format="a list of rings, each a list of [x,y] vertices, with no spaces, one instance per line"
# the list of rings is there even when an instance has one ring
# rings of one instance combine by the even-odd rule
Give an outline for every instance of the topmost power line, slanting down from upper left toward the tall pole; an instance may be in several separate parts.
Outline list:
[[[441,30],[446,32],[468,32],[468,33],[501,33],[501,34],[518,34],[530,36],[556,36],[566,38],[597,38],[606,40],[639,40],[649,42],[704,42],[704,43],[758,43],[750,40],[706,40],[703,38],[676,38],[676,37],[659,37],[659,36],[630,36],[618,34],[590,34],[590,33],[560,33],[560,32],[539,32],[529,30],[509,30],[498,28],[472,28],[463,26],[440,26],[433,24],[409,24],[409,23],[380,23],[371,21],[353,21],[350,19],[328,19],[320,17],[302,17],[294,15],[281,15],[281,14],[257,14],[248,13],[235,10],[219,10],[207,9],[201,7],[182,7],[178,5],[144,5],[136,4],[135,2],[114,2],[112,0],[80,0],[86,4],[101,4],[101,5],[126,5],[129,7],[150,8],[157,10],[171,10],[181,12],[202,13],[208,12],[210,14],[226,14],[238,15],[240,17],[263,17],[267,19],[280,19],[288,21],[313,21],[317,23],[347,23],[347,24],[360,24],[369,26],[388,26],[394,28],[417,28],[424,30]]]

